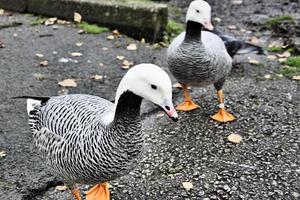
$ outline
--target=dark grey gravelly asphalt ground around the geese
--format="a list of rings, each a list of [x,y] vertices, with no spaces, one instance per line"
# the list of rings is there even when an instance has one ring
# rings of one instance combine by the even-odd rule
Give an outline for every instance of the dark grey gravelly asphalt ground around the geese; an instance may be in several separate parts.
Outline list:
[[[25,101],[10,97],[87,93],[113,100],[126,72],[117,55],[135,64],[155,62],[166,69],[166,49],[153,49],[126,36],[107,40],[110,33],[80,35],[73,25],[57,25],[57,30],[30,26],[32,20],[20,14],[0,17],[0,27],[22,22],[0,29],[0,41],[5,45],[0,49],[0,151],[7,154],[0,156],[0,199],[72,199],[69,191],[55,190],[61,183],[34,148]],[[247,34],[250,37],[256,33]],[[77,42],[83,45],[77,47]],[[268,40],[263,42],[266,45]],[[137,51],[126,50],[129,43],[136,43]],[[70,55],[76,51],[83,56]],[[36,53],[49,61],[47,67],[39,66],[43,59]],[[275,76],[279,64],[265,56],[251,55],[262,64],[250,65],[247,57],[238,57],[241,63],[224,88],[228,110],[237,117],[233,123],[209,119],[217,109],[211,86],[192,89],[200,109],[179,113],[177,123],[170,122],[150,103],[143,104],[145,155],[129,175],[111,182],[113,200],[300,198],[299,82],[261,80],[265,74]],[[60,58],[72,60],[61,63]],[[92,80],[95,74],[103,75],[104,80]],[[66,78],[75,79],[78,86],[59,87],[58,81]],[[174,88],[174,102],[181,100],[181,91]],[[229,142],[231,133],[240,134],[242,142]],[[191,182],[193,188],[186,190],[183,182]],[[82,188],[86,190],[87,186]]]

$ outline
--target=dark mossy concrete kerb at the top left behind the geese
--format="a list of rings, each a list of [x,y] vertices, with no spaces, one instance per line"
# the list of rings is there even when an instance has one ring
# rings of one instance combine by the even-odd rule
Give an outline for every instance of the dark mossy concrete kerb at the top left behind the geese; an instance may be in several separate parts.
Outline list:
[[[25,9],[18,2],[26,3]],[[114,0],[0,0],[0,7],[73,20],[74,12],[84,21],[118,29],[136,39],[155,42],[163,37],[168,22],[168,6],[154,2]]]

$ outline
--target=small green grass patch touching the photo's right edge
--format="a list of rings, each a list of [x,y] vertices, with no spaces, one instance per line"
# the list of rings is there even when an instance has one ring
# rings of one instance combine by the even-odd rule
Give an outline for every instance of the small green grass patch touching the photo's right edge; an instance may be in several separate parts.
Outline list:
[[[281,70],[284,76],[293,77],[300,75],[300,56],[290,57],[283,64],[288,66]]]

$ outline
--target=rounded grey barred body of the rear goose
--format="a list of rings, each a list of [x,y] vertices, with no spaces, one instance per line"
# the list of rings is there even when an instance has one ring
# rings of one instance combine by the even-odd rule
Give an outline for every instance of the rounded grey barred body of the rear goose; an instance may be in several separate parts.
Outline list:
[[[171,43],[167,53],[168,67],[178,82],[186,85],[222,82],[231,70],[232,59],[217,35],[201,31],[195,24],[187,24],[187,29],[196,29],[191,30],[194,31],[191,35],[183,32]]]

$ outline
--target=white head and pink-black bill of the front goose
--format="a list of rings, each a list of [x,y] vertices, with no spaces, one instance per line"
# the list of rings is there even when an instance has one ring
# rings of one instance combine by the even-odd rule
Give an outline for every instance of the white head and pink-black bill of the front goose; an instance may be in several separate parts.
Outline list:
[[[116,94],[130,91],[158,105],[173,121],[178,115],[172,103],[172,84],[169,75],[154,64],[139,64],[132,67],[121,80]]]

